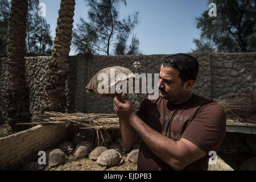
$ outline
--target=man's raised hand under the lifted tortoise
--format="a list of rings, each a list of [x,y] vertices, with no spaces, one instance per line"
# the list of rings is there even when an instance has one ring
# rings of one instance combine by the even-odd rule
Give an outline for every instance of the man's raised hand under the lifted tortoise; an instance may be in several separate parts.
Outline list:
[[[133,104],[128,100],[125,93],[122,94],[123,103],[118,100],[117,97],[114,98],[114,110],[118,117],[124,121],[130,122],[131,118],[135,115]]]

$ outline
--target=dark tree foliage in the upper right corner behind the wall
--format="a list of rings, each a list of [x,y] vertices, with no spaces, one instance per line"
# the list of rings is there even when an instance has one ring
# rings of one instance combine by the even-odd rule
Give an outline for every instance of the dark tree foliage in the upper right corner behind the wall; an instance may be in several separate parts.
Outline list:
[[[256,0],[210,0],[209,3],[211,2],[217,5],[217,16],[210,17],[208,9],[196,18],[201,39],[212,42],[218,52],[255,52]],[[210,48],[209,44],[204,46]]]

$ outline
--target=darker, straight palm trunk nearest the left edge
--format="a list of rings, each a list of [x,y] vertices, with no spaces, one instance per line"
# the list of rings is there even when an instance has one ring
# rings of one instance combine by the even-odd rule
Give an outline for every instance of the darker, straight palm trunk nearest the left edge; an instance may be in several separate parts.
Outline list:
[[[15,123],[30,122],[30,93],[25,78],[26,22],[28,0],[11,1],[11,12],[8,28],[8,83],[7,113],[8,123],[13,131],[27,129]]]

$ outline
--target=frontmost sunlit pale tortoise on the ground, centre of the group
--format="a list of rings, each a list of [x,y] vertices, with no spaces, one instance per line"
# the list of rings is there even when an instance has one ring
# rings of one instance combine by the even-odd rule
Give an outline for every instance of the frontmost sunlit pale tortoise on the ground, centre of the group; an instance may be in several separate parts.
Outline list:
[[[115,164],[121,164],[123,162],[122,156],[114,149],[105,150],[98,156],[96,163],[102,167],[114,166]]]

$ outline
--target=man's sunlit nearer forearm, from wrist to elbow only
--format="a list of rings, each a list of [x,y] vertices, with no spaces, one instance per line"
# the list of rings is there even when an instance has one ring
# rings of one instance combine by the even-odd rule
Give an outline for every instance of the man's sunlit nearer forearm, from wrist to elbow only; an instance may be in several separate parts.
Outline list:
[[[189,161],[189,158],[184,158],[184,156],[189,156],[188,148],[184,144],[175,142],[151,129],[138,115],[133,115],[129,123],[147,147],[172,168],[181,169]]]

